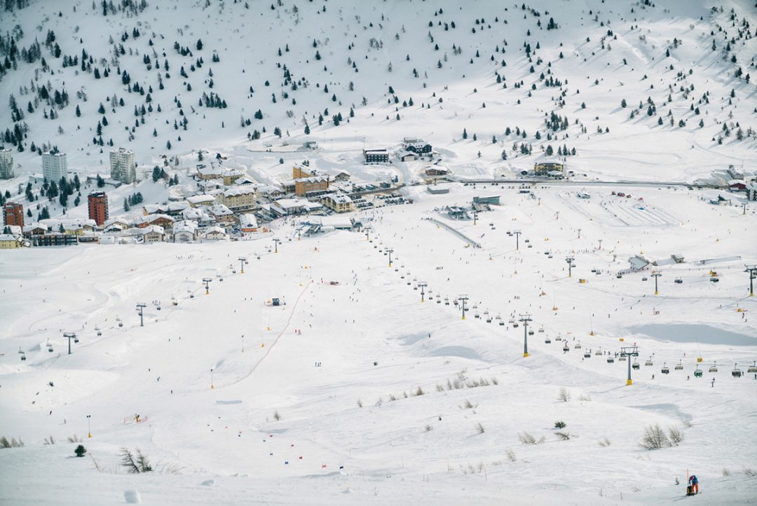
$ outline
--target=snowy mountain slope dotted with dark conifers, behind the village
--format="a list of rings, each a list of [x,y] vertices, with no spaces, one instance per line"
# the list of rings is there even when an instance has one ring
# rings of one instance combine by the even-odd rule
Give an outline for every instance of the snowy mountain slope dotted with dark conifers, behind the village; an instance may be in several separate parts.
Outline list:
[[[0,54],[13,39],[2,89],[20,114],[6,96],[0,126],[11,141],[28,126],[22,174],[39,172],[32,143],[94,172],[111,141],[152,164],[203,147],[410,135],[474,175],[528,168],[551,146],[575,149],[581,172],[693,180],[757,146],[747,0],[27,3],[3,13]],[[46,67],[22,61],[35,41]],[[42,98],[55,91],[64,107]],[[226,107],[201,104],[211,94]]]

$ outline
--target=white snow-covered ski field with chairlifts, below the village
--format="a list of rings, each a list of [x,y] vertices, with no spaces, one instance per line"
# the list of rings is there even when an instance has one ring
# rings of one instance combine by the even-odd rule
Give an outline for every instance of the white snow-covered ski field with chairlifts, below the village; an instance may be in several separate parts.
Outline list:
[[[755,214],[700,191],[566,188],[410,188],[412,205],[358,215],[371,241],[298,241],[295,220],[274,224],[279,253],[270,238],[4,252],[0,435],[26,445],[0,451],[0,502],[664,504],[688,472],[693,501],[752,503],[757,383],[731,371],[757,359]],[[476,195],[502,205],[475,225],[435,212]],[[655,296],[650,271],[616,278],[634,254],[685,262]],[[626,386],[627,362],[596,353],[633,345]],[[641,448],[655,424],[683,440]],[[126,473],[124,447],[158,472]]]

